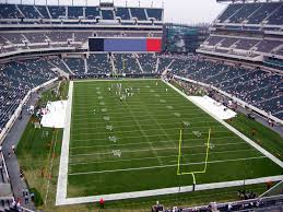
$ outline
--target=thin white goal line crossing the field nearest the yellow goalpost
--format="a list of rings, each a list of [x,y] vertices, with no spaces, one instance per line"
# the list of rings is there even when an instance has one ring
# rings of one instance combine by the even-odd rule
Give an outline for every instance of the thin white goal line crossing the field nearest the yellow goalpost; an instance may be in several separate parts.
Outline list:
[[[243,157],[243,158],[223,160],[223,161],[210,161],[210,162],[208,162],[208,164],[249,161],[249,160],[260,160],[260,158],[267,158],[267,156]],[[198,162],[198,163],[186,163],[186,164],[180,164],[180,165],[199,165],[199,164],[204,164],[204,163],[205,162]],[[178,165],[172,164],[172,165],[162,165],[162,166],[144,166],[144,167],[137,167],[137,168],[106,169],[106,170],[85,172],[85,173],[68,173],[68,175],[71,175],[71,176],[73,176],[73,175],[91,175],[91,174],[103,174],[103,173],[117,173],[117,172],[144,170],[144,169],[154,169],[154,168],[167,168],[167,167],[175,167],[175,166],[178,166]]]

